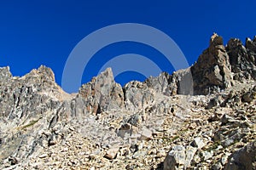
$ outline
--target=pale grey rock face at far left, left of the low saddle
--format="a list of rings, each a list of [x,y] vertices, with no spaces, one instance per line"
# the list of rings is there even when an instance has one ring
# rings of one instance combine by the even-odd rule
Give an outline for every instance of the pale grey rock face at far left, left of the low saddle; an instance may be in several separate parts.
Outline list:
[[[38,145],[43,144],[44,139],[47,140],[40,132],[48,129],[60,100],[68,94],[55,84],[54,73],[45,66],[24,77],[12,77],[9,68],[1,72],[1,159],[8,156],[26,158],[39,150]]]

